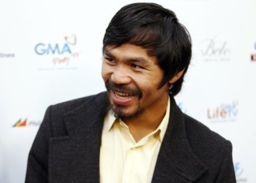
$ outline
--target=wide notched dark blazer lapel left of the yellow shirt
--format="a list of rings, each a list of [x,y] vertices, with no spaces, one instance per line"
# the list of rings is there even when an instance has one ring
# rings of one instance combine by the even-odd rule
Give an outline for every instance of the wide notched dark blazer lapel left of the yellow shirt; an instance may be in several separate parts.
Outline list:
[[[107,95],[101,94],[64,115],[68,136],[50,139],[52,182],[100,182],[101,133],[107,109]]]

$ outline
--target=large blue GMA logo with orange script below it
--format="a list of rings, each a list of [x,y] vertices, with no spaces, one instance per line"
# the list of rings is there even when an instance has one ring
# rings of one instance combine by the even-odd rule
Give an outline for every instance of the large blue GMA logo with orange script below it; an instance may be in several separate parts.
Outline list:
[[[64,36],[61,41],[56,43],[40,42],[35,45],[36,55],[43,57],[44,66],[49,69],[56,66],[72,66],[79,58],[80,52],[77,51],[77,38],[73,34]],[[46,64],[47,63],[47,64]],[[55,67],[52,67],[55,66]],[[70,67],[66,67],[70,69]]]

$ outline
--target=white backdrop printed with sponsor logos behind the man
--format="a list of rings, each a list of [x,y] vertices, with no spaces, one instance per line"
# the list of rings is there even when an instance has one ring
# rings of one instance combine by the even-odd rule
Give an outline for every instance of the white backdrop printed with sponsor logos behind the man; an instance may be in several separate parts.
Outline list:
[[[24,182],[47,106],[105,90],[102,38],[131,2],[0,2],[0,182]],[[232,142],[237,182],[256,182],[256,1],[155,2],[175,11],[192,36],[177,103]]]

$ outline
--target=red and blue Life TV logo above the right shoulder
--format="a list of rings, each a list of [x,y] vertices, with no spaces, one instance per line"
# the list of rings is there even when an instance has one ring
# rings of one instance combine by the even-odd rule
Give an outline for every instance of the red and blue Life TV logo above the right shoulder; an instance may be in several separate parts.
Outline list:
[[[216,107],[207,109],[207,118],[210,122],[234,122],[238,115],[238,101],[234,100],[230,103],[221,103]]]

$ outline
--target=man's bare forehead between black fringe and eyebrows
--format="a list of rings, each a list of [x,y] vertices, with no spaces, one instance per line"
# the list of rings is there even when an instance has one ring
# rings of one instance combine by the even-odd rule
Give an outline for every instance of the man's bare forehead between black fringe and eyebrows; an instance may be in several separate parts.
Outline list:
[[[141,58],[155,64],[157,63],[156,56],[148,55],[148,49],[129,43],[122,44],[119,47],[115,47],[114,45],[108,45],[105,47],[103,53],[117,59],[129,60],[133,58]]]

